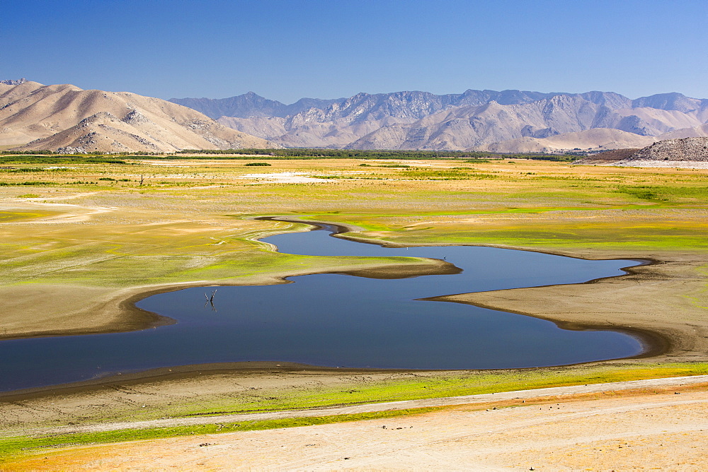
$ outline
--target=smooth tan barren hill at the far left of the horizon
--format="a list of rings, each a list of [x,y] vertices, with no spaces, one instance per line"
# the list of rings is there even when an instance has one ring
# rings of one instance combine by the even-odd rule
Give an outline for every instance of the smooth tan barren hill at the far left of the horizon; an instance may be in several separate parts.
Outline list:
[[[279,147],[159,98],[31,81],[0,84],[0,145],[109,153]]]

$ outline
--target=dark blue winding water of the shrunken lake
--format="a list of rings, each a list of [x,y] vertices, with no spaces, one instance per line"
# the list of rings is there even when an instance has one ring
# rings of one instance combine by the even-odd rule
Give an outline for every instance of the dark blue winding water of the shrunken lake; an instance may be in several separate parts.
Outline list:
[[[280,285],[186,288],[137,306],[176,324],[120,334],[0,342],[0,391],[118,372],[212,362],[329,367],[492,369],[567,365],[642,352],[634,336],[569,331],[551,321],[454,302],[457,293],[582,283],[637,261],[587,261],[493,247],[389,248],[331,237],[336,227],[265,238],[280,252],[444,259],[459,273],[380,279],[323,273]],[[217,289],[214,307],[205,292]]]

